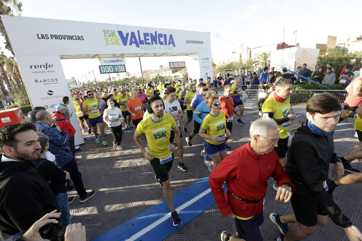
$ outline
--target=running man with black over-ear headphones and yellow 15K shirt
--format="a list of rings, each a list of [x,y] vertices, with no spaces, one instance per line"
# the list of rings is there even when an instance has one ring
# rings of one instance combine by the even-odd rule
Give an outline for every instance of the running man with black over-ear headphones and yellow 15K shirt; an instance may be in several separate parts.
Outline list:
[[[181,219],[173,206],[169,171],[171,171],[174,159],[173,151],[176,149],[180,138],[180,129],[177,128],[176,121],[171,115],[164,114],[164,108],[160,96],[150,98],[147,104],[147,112],[152,115],[139,123],[134,134],[134,140],[142,151],[144,158],[150,161],[156,174],[155,179],[163,188],[165,201],[170,208],[172,223],[177,226],[181,224]],[[174,142],[170,144],[171,129],[174,131]],[[141,141],[143,133],[146,134],[148,151],[144,149]]]

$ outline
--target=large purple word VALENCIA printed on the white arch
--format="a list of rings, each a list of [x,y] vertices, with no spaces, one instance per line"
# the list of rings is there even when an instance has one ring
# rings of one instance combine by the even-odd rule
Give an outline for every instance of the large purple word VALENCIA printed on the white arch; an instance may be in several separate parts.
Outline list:
[[[172,34],[157,34],[157,31],[155,31],[155,34],[153,33],[142,33],[143,39],[141,38],[141,34],[139,30],[137,30],[137,35],[135,32],[126,33],[123,34],[122,31],[118,31],[119,37],[122,40],[122,43],[124,46],[135,44],[137,47],[140,45],[172,45],[175,47],[175,42],[173,40]]]

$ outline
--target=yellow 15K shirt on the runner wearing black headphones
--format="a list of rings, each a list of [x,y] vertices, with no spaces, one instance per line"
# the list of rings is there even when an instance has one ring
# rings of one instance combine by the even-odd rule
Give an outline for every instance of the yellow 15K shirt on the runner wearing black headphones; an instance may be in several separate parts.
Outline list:
[[[160,159],[172,154],[167,149],[170,145],[171,128],[176,128],[176,121],[169,114],[163,114],[159,122],[153,121],[151,116],[138,124],[136,131],[140,135],[146,133],[147,149],[153,153],[151,157]]]

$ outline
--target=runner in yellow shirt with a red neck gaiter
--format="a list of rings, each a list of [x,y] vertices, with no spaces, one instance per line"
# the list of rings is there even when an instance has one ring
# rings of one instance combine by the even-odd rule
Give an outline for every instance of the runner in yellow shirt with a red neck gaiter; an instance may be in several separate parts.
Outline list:
[[[283,168],[287,163],[286,153],[290,121],[296,118],[296,114],[290,109],[289,96],[291,94],[292,82],[290,79],[281,79],[275,84],[274,95],[266,99],[262,106],[262,116],[273,118],[279,125],[280,139],[274,150],[279,155],[279,162]],[[277,189],[275,185],[273,188]]]

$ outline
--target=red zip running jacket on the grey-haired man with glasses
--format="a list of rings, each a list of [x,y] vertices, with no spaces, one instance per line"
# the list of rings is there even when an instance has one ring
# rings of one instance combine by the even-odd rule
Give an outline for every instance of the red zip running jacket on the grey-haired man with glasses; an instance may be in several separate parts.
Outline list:
[[[284,182],[291,183],[288,174],[279,163],[279,156],[273,150],[265,155],[255,155],[250,148],[250,142],[239,147],[227,156],[211,172],[209,184],[221,214],[233,214],[250,218],[263,209],[263,201],[246,203],[231,195],[247,200],[259,200],[265,197],[267,182],[270,177],[281,186]],[[222,186],[226,181],[227,191],[224,195]],[[292,192],[295,192],[294,185]]]

